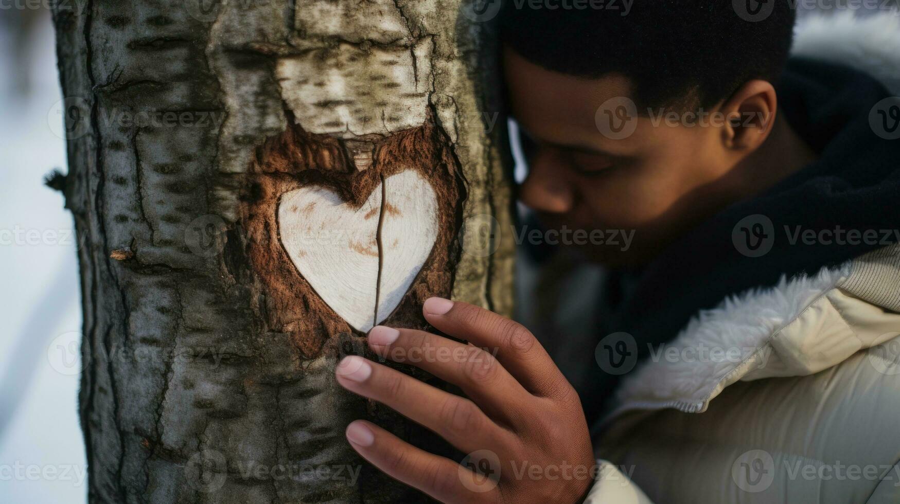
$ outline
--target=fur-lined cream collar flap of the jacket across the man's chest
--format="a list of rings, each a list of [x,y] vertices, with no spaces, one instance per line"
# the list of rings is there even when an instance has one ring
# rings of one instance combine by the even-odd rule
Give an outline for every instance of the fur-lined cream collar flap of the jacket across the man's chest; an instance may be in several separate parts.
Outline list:
[[[874,270],[875,257],[893,266]],[[773,287],[701,311],[623,380],[612,416],[637,409],[703,412],[732,383],[815,374],[900,336],[900,313],[894,311],[900,300],[880,306],[857,288],[870,285],[871,276],[879,276],[882,294],[900,296],[900,246],[816,275],[782,277]],[[869,355],[877,369],[893,365],[880,356]]]

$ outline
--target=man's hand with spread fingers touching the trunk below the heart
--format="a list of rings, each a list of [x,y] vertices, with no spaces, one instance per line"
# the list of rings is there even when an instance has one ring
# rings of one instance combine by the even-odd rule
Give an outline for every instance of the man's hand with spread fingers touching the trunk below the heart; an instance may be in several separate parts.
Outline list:
[[[392,478],[443,502],[579,501],[594,474],[588,426],[578,395],[544,347],[516,322],[464,302],[430,298],[423,311],[431,325],[470,343],[378,326],[369,347],[454,383],[469,399],[360,356],[340,362],[338,383],[469,456],[455,464],[365,420],[347,427],[350,445]]]

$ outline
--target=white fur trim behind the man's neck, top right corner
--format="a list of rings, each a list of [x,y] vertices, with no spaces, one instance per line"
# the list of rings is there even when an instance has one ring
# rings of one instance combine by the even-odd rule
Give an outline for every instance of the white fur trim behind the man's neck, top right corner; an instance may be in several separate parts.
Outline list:
[[[900,11],[808,15],[797,22],[792,52],[864,71],[900,94]]]

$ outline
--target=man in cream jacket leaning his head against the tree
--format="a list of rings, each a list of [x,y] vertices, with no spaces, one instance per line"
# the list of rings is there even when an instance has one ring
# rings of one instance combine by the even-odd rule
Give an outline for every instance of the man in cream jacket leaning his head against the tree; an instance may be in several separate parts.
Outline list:
[[[900,501],[900,99],[788,61],[788,2],[622,14],[512,3],[500,23],[522,201],[547,229],[635,230],[586,246],[617,300],[596,374],[573,387],[527,329],[432,298],[428,322],[469,345],[369,344],[466,398],[358,356],[337,378],[464,464],[365,421],[348,440],[445,502]],[[458,358],[407,358],[422,348]]]

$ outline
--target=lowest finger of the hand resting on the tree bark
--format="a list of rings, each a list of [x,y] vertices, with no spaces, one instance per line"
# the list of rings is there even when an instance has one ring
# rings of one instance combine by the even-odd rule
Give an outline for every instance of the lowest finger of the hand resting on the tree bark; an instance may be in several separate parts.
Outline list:
[[[441,502],[499,501],[497,482],[412,446],[372,422],[350,423],[347,440],[359,455],[383,473]]]

